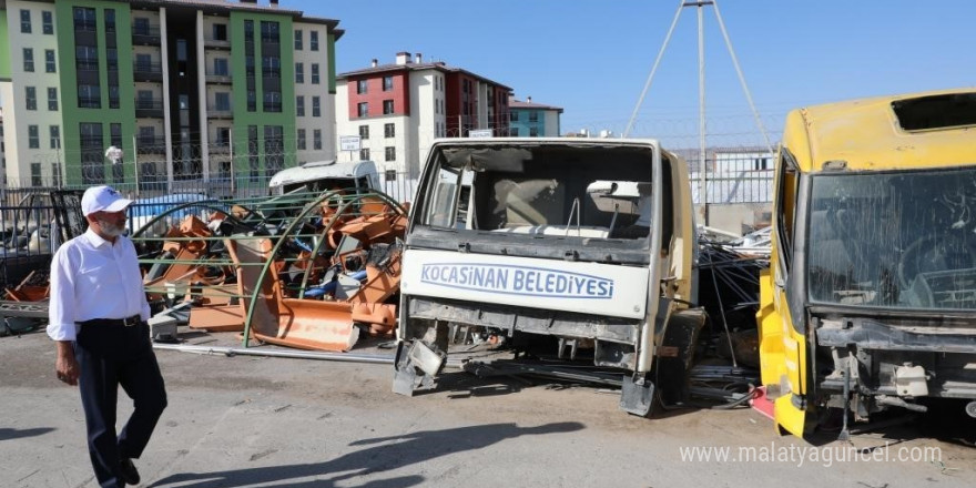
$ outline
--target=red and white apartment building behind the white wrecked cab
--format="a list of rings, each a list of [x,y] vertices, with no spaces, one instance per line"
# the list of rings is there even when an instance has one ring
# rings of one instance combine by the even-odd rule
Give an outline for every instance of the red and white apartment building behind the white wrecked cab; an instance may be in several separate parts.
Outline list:
[[[436,138],[490,130],[508,134],[509,87],[423,55],[396,54],[336,77],[338,135],[358,135],[358,154],[339,161],[373,160],[388,174],[419,174]]]

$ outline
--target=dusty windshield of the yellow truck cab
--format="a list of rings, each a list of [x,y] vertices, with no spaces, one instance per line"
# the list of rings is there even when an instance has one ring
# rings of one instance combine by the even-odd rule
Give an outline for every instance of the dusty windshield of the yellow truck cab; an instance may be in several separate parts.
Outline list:
[[[811,302],[976,308],[976,170],[816,175]]]

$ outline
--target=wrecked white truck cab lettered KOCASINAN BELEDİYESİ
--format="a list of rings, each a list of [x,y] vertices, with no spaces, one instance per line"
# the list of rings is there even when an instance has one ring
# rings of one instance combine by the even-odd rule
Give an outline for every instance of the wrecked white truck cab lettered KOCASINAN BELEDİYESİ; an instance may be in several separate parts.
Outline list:
[[[693,228],[687,165],[657,141],[436,141],[405,236],[394,390],[431,387],[449,329],[475,327],[618,370],[621,408],[648,415],[653,373],[683,378],[704,322]]]

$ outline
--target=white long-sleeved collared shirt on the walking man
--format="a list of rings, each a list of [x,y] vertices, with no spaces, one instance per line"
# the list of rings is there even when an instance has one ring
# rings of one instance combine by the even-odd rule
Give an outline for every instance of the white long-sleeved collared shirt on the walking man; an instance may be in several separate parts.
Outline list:
[[[64,243],[51,260],[48,335],[74,340],[78,323],[92,318],[149,319],[135,246],[125,236],[115,243],[89,228]]]

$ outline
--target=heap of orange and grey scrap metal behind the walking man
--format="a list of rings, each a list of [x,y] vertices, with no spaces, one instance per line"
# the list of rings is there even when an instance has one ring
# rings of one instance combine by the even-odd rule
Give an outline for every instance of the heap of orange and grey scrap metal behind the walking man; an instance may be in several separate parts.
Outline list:
[[[187,212],[189,211],[189,212]],[[161,236],[133,234],[156,338],[176,324],[303,349],[349,350],[360,329],[392,336],[406,209],[334,190],[191,202]]]

